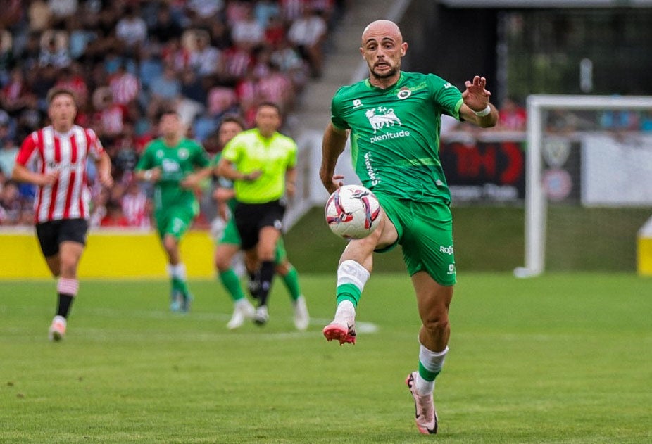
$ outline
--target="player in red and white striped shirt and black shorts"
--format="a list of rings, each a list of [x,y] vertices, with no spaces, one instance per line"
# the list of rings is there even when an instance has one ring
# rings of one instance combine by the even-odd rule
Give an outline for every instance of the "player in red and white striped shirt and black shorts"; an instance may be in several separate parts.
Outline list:
[[[88,231],[90,191],[87,158],[104,186],[113,185],[111,159],[92,129],[75,125],[73,91],[54,88],[47,96],[51,125],[32,132],[20,147],[11,177],[37,185],[36,233],[47,265],[58,277],[58,308],[49,338],[59,341],[77,295],[79,265]]]

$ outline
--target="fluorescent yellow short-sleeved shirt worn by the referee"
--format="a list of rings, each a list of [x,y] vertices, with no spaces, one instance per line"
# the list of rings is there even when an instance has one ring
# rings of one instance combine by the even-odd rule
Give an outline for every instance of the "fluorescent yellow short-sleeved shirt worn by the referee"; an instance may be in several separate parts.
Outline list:
[[[222,150],[222,158],[244,174],[260,170],[261,177],[251,182],[234,182],[235,198],[242,203],[266,203],[285,193],[285,172],[296,165],[296,144],[279,132],[261,136],[258,129],[237,134]]]

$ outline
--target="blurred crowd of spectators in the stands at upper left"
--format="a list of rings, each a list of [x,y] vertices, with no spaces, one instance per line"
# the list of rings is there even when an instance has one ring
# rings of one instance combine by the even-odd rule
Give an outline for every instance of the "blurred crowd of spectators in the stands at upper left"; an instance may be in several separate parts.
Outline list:
[[[13,182],[20,144],[47,125],[46,93],[77,95],[77,124],[99,135],[115,186],[94,186],[92,227],[151,226],[132,170],[174,106],[209,154],[216,129],[256,105],[289,112],[346,0],[0,0],[0,224],[32,223],[33,186]],[[92,166],[92,165],[91,165]],[[89,170],[92,180],[94,171]],[[198,224],[207,224],[202,215]]]

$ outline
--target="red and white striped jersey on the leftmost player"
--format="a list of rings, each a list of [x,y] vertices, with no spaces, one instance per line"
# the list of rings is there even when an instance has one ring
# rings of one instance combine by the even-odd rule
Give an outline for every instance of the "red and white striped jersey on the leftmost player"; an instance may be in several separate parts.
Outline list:
[[[48,126],[32,132],[23,141],[16,163],[46,174],[58,170],[52,185],[39,186],[34,199],[36,223],[62,219],[88,219],[91,194],[87,183],[87,158],[98,160],[104,153],[92,129],[73,125],[66,134]]]

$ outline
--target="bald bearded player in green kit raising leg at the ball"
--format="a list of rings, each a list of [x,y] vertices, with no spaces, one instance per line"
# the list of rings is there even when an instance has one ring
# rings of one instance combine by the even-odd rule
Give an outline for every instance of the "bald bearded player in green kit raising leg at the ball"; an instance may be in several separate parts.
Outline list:
[[[489,103],[487,80],[475,76],[465,91],[433,74],[401,71],[408,44],[389,20],[368,25],[360,52],[369,77],[341,87],[322,146],[320,179],[327,191],[343,184],[337,158],[351,138],[353,167],[377,196],[382,220],[370,236],[349,242],[337,269],[337,310],[325,326],[328,341],[355,343],[356,305],[372,270],[372,253],[397,244],[412,279],[422,322],[418,371],[406,379],[421,433],[437,433],[432,393],[448,352],[449,305],[456,283],[451,194],[439,162],[441,114],[493,127],[498,111]]]

